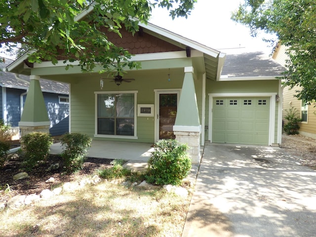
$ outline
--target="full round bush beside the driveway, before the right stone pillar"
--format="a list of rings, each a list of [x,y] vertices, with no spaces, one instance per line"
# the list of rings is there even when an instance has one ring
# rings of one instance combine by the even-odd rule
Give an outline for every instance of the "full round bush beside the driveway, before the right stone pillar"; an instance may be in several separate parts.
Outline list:
[[[146,180],[149,183],[180,185],[191,170],[188,145],[176,140],[161,140],[155,144],[148,161]]]

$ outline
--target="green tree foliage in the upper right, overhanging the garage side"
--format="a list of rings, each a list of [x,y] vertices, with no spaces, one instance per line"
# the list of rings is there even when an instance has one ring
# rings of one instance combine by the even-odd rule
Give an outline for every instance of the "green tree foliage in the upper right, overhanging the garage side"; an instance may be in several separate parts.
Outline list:
[[[298,85],[296,96],[308,102],[316,99],[316,3],[315,0],[244,0],[232,19],[258,30],[276,34],[288,47],[285,83]]]

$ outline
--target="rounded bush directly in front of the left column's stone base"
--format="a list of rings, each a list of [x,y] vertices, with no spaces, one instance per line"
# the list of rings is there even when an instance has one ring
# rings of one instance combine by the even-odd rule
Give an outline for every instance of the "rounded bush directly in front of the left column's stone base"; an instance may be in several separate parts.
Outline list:
[[[25,166],[32,169],[37,162],[45,161],[52,144],[52,137],[45,132],[31,132],[24,135],[22,147],[25,151]]]

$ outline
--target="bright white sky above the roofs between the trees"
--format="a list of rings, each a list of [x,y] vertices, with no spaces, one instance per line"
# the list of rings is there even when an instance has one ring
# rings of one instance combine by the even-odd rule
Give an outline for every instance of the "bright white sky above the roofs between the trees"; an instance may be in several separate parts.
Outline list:
[[[239,2],[240,0],[197,0],[187,19],[181,17],[174,20],[166,9],[156,7],[150,22],[224,53],[229,52],[230,48],[240,48],[237,50],[259,50],[270,54],[272,48],[262,40],[262,37],[270,36],[259,35],[253,38],[247,27],[231,20],[231,12],[237,9]],[[0,56],[4,57],[5,54],[0,53]]]

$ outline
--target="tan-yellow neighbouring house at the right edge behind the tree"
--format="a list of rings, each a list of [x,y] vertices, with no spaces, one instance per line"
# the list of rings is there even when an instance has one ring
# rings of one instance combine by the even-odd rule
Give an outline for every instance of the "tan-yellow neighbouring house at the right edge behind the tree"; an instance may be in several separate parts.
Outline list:
[[[281,65],[285,66],[287,55],[285,54],[287,47],[282,44],[277,44],[276,50],[273,53],[273,58]],[[283,121],[286,123],[286,116],[288,109],[292,106],[298,111],[298,116],[302,119],[299,123],[299,133],[316,138],[316,108],[312,105],[307,105],[305,101],[297,99],[294,95],[299,87],[295,86],[292,89],[289,86],[283,88]]]

